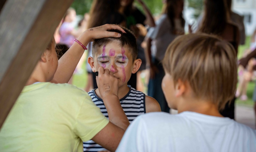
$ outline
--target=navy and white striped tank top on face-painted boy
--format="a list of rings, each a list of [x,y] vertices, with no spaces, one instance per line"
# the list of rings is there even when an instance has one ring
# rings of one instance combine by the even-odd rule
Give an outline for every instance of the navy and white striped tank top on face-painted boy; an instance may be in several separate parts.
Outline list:
[[[129,92],[120,99],[121,106],[131,123],[137,116],[145,114],[145,94],[143,92],[137,91],[128,85],[130,90]],[[100,99],[96,94],[95,90],[88,92],[91,96],[92,101],[100,108],[100,111],[103,113],[105,117],[108,116],[108,112],[106,107],[103,103],[103,100]],[[100,145],[96,144],[94,141],[89,140],[87,142],[83,142],[83,151],[101,151],[106,150],[105,148],[101,147]]]

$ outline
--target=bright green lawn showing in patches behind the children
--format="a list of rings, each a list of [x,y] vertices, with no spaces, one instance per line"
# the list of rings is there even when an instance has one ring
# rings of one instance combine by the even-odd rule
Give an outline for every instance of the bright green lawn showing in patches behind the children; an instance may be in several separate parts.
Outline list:
[[[239,46],[238,48],[238,59],[240,59],[243,56],[243,53],[246,49],[250,47],[250,37],[248,36],[246,38],[246,44]],[[78,88],[84,89],[86,84],[87,84],[87,72],[86,72],[86,66],[85,62],[82,65],[82,69],[84,69],[84,72],[82,74],[74,74],[73,75],[73,84],[76,85]],[[143,82],[145,79],[142,80]],[[254,101],[252,100],[252,94],[254,91],[254,86],[255,86],[255,81],[251,81],[248,84],[248,89],[247,89],[247,96],[248,100],[246,101],[241,101],[239,98],[236,100],[236,104],[239,105],[246,105],[246,106],[253,106]]]

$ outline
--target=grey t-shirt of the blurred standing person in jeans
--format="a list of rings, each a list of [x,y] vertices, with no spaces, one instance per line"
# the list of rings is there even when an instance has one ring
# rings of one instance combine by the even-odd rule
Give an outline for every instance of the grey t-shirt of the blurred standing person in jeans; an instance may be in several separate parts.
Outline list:
[[[179,33],[184,33],[184,26],[180,19],[174,20],[175,30]],[[172,25],[168,19],[167,14],[163,14],[157,21],[156,26],[151,27],[147,32],[147,37],[152,39],[152,56],[158,61],[164,59],[165,51],[169,44],[179,35],[171,32]]]

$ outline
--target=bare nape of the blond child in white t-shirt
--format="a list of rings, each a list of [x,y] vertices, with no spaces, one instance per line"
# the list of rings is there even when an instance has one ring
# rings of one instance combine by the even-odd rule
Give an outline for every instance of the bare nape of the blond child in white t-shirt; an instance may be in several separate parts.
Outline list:
[[[218,107],[209,101],[196,100],[196,99],[187,99],[179,101],[177,105],[178,113],[184,111],[197,112],[205,115],[223,117],[218,110]]]

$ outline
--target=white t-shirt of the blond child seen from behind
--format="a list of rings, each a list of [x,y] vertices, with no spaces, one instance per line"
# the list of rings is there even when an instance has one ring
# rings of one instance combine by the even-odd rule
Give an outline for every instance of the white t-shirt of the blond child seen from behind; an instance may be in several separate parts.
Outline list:
[[[256,151],[256,130],[227,117],[154,112],[137,117],[117,152]]]

